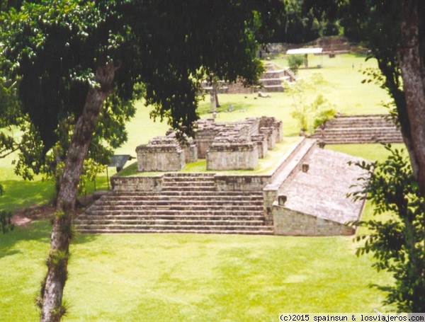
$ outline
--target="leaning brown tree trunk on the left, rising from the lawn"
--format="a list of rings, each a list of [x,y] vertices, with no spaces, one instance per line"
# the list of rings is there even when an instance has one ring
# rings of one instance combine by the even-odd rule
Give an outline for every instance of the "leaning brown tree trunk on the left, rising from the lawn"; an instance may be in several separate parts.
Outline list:
[[[62,305],[62,296],[67,281],[69,241],[73,235],[72,220],[75,214],[77,186],[94,127],[103,102],[112,87],[114,75],[113,62],[101,65],[96,69],[96,82],[99,86],[89,89],[83,113],[77,121],[67,152],[60,192],[57,197],[50,252],[46,260],[47,275],[42,283],[39,298],[40,321],[43,322],[60,321],[66,310]]]

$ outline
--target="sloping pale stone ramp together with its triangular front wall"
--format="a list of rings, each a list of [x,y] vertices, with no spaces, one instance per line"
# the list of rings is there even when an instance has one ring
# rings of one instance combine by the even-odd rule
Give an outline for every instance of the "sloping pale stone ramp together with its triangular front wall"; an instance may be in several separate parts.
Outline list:
[[[346,197],[356,178],[363,176],[358,166],[348,161],[361,159],[339,152],[314,149],[303,164],[280,189],[278,202],[273,203],[273,224],[276,234],[283,235],[351,235],[353,222],[361,217],[364,202]]]

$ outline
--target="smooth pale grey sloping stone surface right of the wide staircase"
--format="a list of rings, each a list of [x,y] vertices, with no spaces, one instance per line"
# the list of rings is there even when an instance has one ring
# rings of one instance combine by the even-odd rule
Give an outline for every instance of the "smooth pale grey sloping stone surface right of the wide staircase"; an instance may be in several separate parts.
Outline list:
[[[307,172],[299,171],[286,183],[281,193],[287,196],[285,207],[339,224],[357,220],[361,216],[363,202],[348,199],[346,194],[359,188],[351,188],[364,172],[348,161],[362,159],[327,149],[314,149],[305,163]]]

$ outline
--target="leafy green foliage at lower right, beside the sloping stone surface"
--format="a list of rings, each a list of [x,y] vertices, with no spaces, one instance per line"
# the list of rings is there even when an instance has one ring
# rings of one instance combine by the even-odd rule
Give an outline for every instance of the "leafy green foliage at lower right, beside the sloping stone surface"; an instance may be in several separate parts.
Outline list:
[[[377,259],[373,266],[395,277],[394,285],[380,286],[388,292],[387,304],[396,304],[400,312],[424,312],[424,200],[403,151],[385,148],[387,160],[358,163],[367,176],[361,178],[363,189],[353,195],[371,200],[377,219],[353,223],[368,228],[368,234],[356,238],[365,240],[357,254],[372,252]]]

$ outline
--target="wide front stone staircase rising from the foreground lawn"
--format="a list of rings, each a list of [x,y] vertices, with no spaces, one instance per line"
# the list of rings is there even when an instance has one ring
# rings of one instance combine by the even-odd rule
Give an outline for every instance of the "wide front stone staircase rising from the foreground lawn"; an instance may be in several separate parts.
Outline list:
[[[86,234],[273,234],[261,191],[218,191],[211,173],[166,173],[162,190],[112,191],[78,217],[76,228]]]

